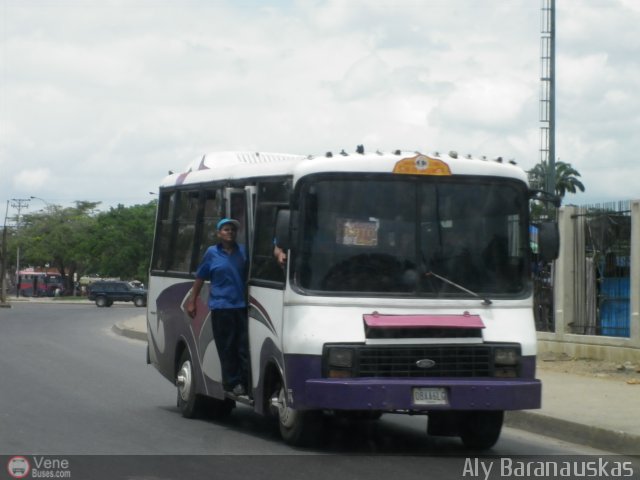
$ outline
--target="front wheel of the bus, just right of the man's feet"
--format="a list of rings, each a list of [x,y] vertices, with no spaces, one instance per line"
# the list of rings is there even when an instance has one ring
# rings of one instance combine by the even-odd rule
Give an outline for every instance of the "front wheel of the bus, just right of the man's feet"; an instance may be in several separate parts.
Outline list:
[[[324,431],[322,412],[291,408],[287,403],[283,382],[278,386],[277,395],[278,426],[284,442],[294,447],[308,447],[318,443]]]

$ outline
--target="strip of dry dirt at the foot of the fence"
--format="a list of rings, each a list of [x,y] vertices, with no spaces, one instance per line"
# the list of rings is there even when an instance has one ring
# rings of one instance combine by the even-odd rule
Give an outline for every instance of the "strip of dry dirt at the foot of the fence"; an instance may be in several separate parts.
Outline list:
[[[590,358],[573,358],[566,354],[543,353],[538,357],[538,368],[554,372],[571,373],[637,384],[640,388],[640,364],[607,362]]]

